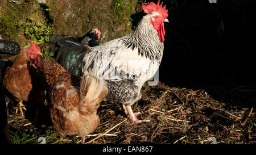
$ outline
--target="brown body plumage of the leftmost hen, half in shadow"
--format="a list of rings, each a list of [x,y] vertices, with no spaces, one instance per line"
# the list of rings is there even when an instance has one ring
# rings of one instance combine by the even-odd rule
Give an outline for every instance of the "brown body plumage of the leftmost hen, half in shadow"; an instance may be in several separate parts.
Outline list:
[[[15,58],[14,64],[6,69],[3,85],[16,100],[28,101],[32,105],[35,102],[41,104],[45,100],[46,83],[43,74],[32,65],[32,60],[27,56],[28,47],[23,47]],[[34,100],[35,97],[36,100]]]

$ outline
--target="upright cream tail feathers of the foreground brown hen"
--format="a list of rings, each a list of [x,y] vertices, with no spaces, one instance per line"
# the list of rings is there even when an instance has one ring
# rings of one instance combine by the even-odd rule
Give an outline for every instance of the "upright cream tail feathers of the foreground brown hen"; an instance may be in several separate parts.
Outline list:
[[[80,100],[81,102],[100,103],[108,94],[108,87],[104,79],[99,79],[87,71],[80,82]]]

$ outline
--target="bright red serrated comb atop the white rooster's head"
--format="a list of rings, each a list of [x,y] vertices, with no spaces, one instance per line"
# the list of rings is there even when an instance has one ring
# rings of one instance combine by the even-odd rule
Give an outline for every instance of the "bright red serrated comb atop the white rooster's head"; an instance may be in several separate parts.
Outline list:
[[[153,11],[158,12],[163,18],[167,18],[168,16],[168,10],[166,9],[166,5],[163,7],[163,2],[160,5],[160,0],[158,0],[158,3],[155,4],[154,2],[150,3],[144,3],[142,5],[142,9],[146,14],[150,14]]]

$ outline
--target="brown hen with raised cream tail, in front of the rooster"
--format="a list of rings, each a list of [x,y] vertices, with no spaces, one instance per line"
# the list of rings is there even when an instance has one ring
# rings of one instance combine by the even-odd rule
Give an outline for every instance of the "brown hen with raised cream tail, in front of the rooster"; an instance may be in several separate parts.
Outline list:
[[[86,72],[84,76],[72,76],[57,62],[42,60],[42,72],[50,85],[49,101],[53,128],[61,136],[85,136],[98,127],[97,109],[108,94],[103,79]]]

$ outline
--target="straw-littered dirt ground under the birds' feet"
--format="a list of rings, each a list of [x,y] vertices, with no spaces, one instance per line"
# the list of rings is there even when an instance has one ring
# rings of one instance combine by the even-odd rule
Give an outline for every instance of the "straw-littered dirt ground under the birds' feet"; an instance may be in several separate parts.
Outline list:
[[[142,112],[139,119],[150,119],[150,123],[132,124],[121,105],[105,100],[98,108],[100,125],[85,143],[255,144],[255,108],[230,105],[214,100],[204,90],[145,84],[142,99],[132,108]],[[15,107],[9,103],[7,108],[11,143],[39,143],[39,137],[47,144],[80,143],[80,137],[60,137],[52,128],[47,103],[36,124],[31,124],[29,110],[21,116],[15,114]]]

